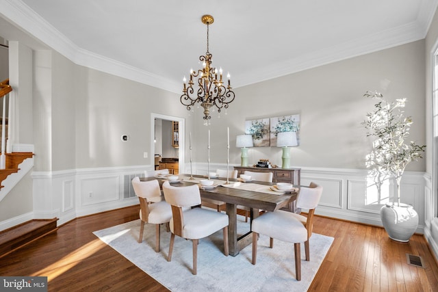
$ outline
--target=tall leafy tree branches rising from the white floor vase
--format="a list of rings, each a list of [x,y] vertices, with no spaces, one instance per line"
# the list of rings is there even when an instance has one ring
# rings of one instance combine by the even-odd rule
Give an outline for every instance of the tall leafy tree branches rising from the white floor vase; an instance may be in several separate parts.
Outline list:
[[[397,186],[397,203],[400,205],[400,181],[403,172],[409,163],[422,158],[426,145],[404,142],[413,123],[410,116],[404,117],[402,110],[406,104],[406,98],[389,102],[383,99],[383,94],[380,92],[370,91],[363,96],[380,100],[374,105],[374,111],[369,112],[366,120],[362,122],[368,131],[367,136],[376,137],[373,150],[366,158],[367,168],[372,169],[376,174],[394,176]]]

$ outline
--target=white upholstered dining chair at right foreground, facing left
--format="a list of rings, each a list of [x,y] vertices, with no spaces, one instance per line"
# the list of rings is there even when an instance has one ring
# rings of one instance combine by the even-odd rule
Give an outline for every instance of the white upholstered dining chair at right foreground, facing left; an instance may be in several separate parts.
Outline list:
[[[270,248],[274,246],[274,239],[294,243],[296,280],[301,280],[301,251],[300,244],[304,242],[306,261],[310,261],[309,239],[313,229],[313,213],[320,202],[322,187],[310,183],[309,187],[300,187],[296,198],[296,206],[309,209],[307,217],[287,211],[268,212],[253,220],[253,259],[257,260],[257,239],[259,234],[270,237]]]

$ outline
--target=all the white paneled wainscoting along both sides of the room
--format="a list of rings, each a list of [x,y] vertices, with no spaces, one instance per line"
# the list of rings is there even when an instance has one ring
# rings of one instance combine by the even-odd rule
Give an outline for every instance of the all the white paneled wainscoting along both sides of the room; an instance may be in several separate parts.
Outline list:
[[[190,165],[184,166],[190,174]],[[193,174],[207,174],[207,163],[192,166]],[[209,165],[210,172],[226,168],[226,163]],[[64,224],[75,217],[138,204],[128,185],[133,176],[142,176],[144,170],[153,170],[153,165],[33,172],[33,217],[57,217],[58,224]],[[381,226],[379,209],[383,201],[376,198],[366,170],[301,168],[301,184],[309,185],[311,181],[324,187],[317,214]],[[394,189],[394,184],[386,183],[385,188]],[[405,172],[401,190],[402,202],[412,204],[419,214],[417,233],[426,233],[430,245],[438,250],[438,221],[431,207],[435,202],[430,195],[430,177],[423,172]],[[383,197],[393,195],[394,191],[386,191]]]

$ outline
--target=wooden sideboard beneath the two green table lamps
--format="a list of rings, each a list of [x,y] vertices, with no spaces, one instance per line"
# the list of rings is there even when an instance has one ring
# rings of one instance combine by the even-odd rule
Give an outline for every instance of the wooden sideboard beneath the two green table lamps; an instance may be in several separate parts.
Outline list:
[[[300,185],[301,168],[255,168],[235,166],[237,176],[243,174],[245,170],[250,172],[272,172],[272,183],[292,183],[292,185]],[[282,208],[294,213],[300,213],[301,209],[295,207],[295,201],[289,202],[289,207]]]

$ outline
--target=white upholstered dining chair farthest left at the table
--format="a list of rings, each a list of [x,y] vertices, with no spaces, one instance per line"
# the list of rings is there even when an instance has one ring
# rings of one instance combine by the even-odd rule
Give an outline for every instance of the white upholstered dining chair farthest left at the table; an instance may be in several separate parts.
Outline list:
[[[161,200],[162,191],[157,180],[140,181],[136,176],[132,180],[134,192],[140,200],[140,236],[138,243],[143,241],[144,223],[155,224],[155,252],[159,252],[159,228],[161,224],[168,224],[172,217],[172,207]],[[168,228],[167,228],[168,229]]]

